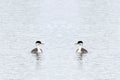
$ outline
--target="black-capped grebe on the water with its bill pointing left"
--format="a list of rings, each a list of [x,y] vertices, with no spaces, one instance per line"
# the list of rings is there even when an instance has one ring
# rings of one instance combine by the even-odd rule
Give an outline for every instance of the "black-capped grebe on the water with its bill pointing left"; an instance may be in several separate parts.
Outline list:
[[[80,54],[80,58],[82,59],[83,54],[88,53],[88,51],[86,49],[82,48],[83,41],[78,41],[75,44],[79,45],[79,48],[76,50],[76,52]]]

